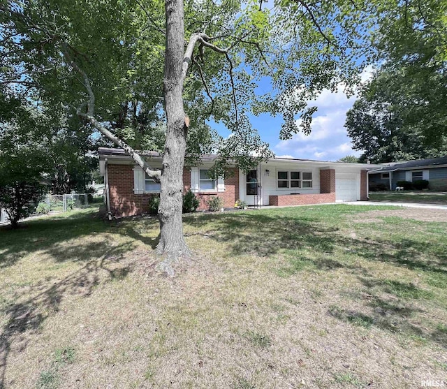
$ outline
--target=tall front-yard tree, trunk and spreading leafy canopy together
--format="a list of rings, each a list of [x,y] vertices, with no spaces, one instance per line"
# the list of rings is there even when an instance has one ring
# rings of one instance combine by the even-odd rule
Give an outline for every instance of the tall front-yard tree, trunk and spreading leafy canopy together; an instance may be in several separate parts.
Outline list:
[[[374,26],[368,2],[348,0],[281,0],[270,9],[263,0],[8,1],[0,17],[3,82],[15,91],[29,84],[48,104],[71,107],[161,181],[158,251],[168,270],[189,255],[181,219],[185,154],[217,148],[216,175],[229,161],[248,170],[268,158],[249,114],[281,115],[283,139],[309,133],[316,107],[307,101],[356,83],[364,54],[357,49]],[[261,80],[272,90],[258,94]],[[118,136],[129,127],[141,132],[145,112],[146,123],[166,119],[161,171]],[[210,117],[233,136],[216,136]]]

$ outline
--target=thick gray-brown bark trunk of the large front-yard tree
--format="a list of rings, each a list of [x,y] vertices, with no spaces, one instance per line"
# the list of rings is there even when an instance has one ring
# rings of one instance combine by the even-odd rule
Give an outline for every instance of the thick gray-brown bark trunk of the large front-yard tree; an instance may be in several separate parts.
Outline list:
[[[166,130],[161,174],[160,242],[157,250],[165,256],[162,267],[172,272],[172,263],[189,256],[183,237],[183,166],[187,126],[183,108],[182,65],[184,57],[184,12],[182,0],[166,0],[166,57],[164,76]]]

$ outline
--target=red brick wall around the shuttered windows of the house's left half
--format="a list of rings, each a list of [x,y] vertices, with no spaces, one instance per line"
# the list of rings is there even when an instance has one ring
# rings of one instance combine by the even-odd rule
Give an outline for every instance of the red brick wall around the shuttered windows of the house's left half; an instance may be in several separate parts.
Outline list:
[[[149,198],[153,194],[133,193],[133,165],[108,165],[110,210],[116,216],[132,216],[147,213]],[[196,193],[200,200],[199,210],[207,210],[207,200],[212,196],[223,198],[223,207],[234,207],[239,198],[239,170],[233,169],[233,175],[225,180],[225,191]],[[191,188],[191,172],[183,171],[184,191]]]

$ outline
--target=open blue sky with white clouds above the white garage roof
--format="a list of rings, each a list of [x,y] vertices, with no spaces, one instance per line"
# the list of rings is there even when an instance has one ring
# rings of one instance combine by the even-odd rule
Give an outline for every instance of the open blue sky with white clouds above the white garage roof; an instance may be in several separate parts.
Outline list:
[[[368,67],[362,73],[362,80],[367,80],[372,73]],[[318,111],[312,121],[312,133],[298,133],[289,140],[279,140],[281,117],[268,114],[251,117],[251,124],[258,130],[261,139],[268,142],[276,156],[288,156],[319,161],[337,161],[346,155],[360,156],[361,151],[352,149],[351,138],[346,133],[344,122],[346,112],[352,107],[356,96],[347,98],[342,87],[337,92],[324,90],[310,105],[316,105]],[[221,135],[228,136],[223,126],[217,126]]]

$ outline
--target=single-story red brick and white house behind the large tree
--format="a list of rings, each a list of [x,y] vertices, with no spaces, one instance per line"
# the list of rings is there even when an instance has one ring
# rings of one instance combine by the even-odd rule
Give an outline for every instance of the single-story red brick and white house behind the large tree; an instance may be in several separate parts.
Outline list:
[[[104,175],[108,210],[116,216],[147,212],[150,196],[160,184],[135,166],[123,149],[98,149],[99,166]],[[141,152],[153,168],[161,168],[162,156]],[[206,155],[200,166],[184,168],[184,191],[191,189],[200,199],[199,210],[207,209],[212,196],[223,199],[224,207],[234,207],[240,199],[249,205],[303,205],[367,200],[367,170],[379,165],[274,158],[260,163],[245,174],[233,166],[225,179],[210,179],[207,170],[214,156]]]

